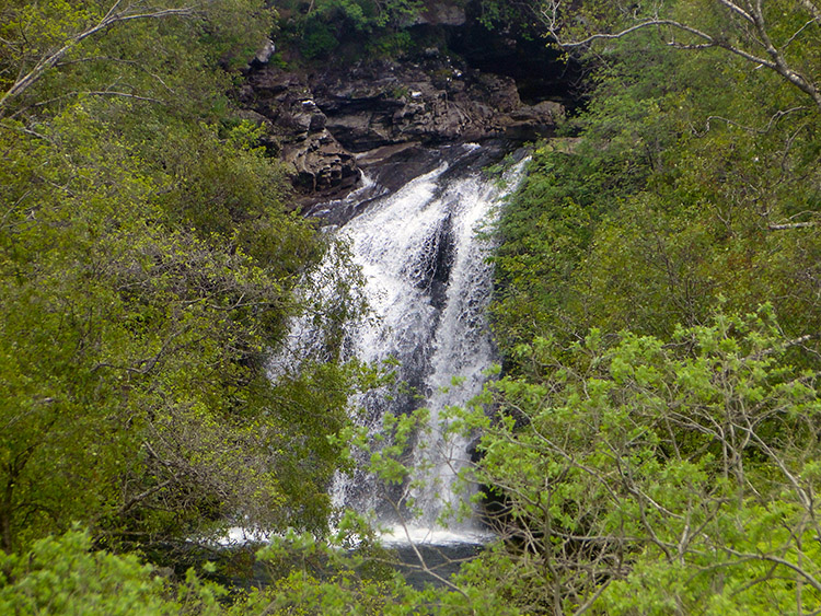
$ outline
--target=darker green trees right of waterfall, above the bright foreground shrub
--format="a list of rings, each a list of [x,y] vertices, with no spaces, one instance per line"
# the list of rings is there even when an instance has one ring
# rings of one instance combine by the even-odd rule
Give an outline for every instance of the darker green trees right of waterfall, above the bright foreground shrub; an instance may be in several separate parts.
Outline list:
[[[813,330],[818,113],[718,51],[677,55],[637,36],[601,61],[574,137],[535,153],[502,213],[494,314],[506,367],[533,336],[670,336],[719,298],[735,310],[770,301],[790,333]]]

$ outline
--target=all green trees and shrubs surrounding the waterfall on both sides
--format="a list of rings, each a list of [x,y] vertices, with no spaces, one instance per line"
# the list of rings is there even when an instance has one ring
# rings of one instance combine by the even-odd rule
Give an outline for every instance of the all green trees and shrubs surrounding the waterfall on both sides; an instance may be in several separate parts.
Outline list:
[[[424,591],[378,546],[333,548],[369,534],[331,534],[326,496],[347,399],[380,379],[339,359],[366,307],[232,101],[267,37],[410,54],[421,3],[298,4],[0,5],[0,607],[821,608],[814,0],[472,4],[586,78],[495,231],[502,376],[450,423],[481,431],[499,541]],[[298,291],[327,255],[335,292]],[[325,344],[271,382],[294,315]],[[273,581],[182,572],[238,512],[285,537]]]

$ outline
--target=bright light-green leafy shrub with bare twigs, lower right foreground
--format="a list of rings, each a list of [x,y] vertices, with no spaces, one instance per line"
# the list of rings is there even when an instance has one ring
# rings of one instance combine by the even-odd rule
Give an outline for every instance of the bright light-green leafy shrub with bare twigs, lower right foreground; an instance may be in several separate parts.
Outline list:
[[[790,345],[764,306],[670,344],[518,349],[541,377],[496,383],[495,421],[459,414],[483,430],[475,479],[506,537],[474,583],[530,613],[817,609],[821,399]]]

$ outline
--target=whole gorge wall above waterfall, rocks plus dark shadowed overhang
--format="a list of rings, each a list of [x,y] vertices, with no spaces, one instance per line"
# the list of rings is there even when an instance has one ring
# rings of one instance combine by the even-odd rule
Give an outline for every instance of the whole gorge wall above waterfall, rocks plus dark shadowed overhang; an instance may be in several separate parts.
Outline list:
[[[246,117],[289,163],[303,211],[357,188],[360,171],[393,191],[433,168],[442,147],[479,142],[489,161],[554,133],[573,71],[544,40],[489,31],[470,5],[441,0],[405,31],[415,44],[395,58],[282,62],[269,47],[246,71]]]

